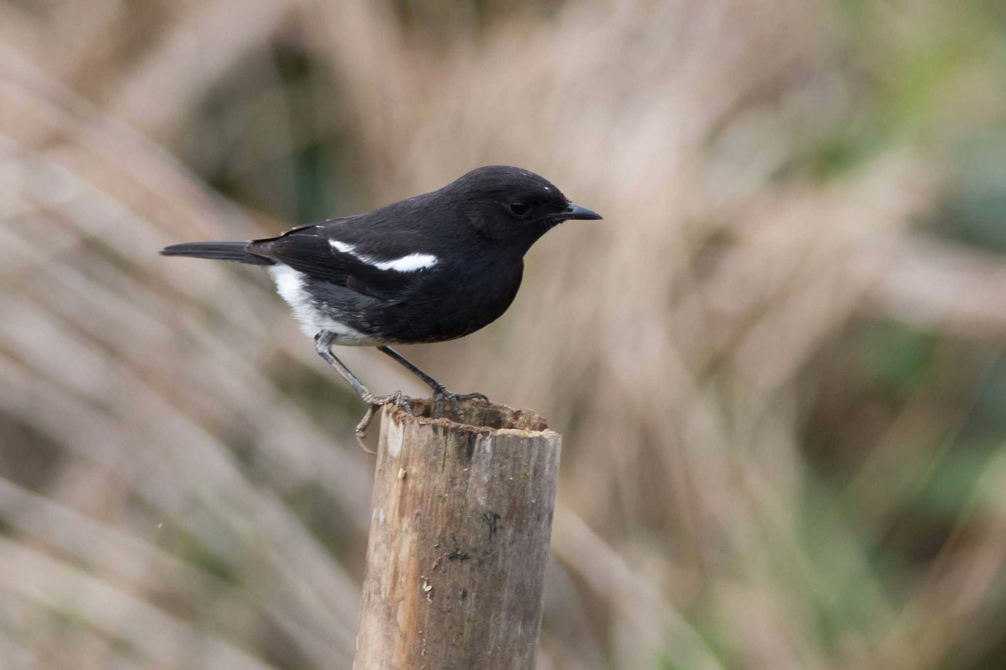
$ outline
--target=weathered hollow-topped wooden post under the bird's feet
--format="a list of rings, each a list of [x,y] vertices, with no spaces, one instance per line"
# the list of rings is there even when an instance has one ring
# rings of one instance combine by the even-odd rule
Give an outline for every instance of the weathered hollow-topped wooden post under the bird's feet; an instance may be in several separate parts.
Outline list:
[[[561,436],[472,401],[385,405],[354,670],[533,670]]]

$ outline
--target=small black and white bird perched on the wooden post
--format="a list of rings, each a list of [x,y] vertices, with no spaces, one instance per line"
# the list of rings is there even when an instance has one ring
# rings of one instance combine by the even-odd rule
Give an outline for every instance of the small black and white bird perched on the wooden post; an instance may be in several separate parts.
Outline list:
[[[569,219],[600,218],[532,172],[487,166],[366,214],[161,253],[267,266],[318,353],[371,410],[392,396],[370,394],[332,345],[377,347],[428,384],[438,404],[457,406],[484,396],[451,393],[389,345],[445,342],[488,325],[516,296],[524,254],[539,237]]]

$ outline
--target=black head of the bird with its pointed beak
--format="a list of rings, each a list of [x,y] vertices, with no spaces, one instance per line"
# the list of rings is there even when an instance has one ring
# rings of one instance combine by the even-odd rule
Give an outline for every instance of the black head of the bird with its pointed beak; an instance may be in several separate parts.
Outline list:
[[[548,230],[570,219],[600,219],[574,205],[547,179],[521,168],[477,168],[446,186],[479,233],[521,253]]]

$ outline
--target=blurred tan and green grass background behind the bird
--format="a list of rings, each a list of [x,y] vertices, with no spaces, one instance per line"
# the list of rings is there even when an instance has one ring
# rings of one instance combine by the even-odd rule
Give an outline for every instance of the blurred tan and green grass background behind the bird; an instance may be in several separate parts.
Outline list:
[[[157,251],[492,163],[606,219],[406,351],[564,434],[541,668],[1006,667],[1003,7],[0,1],[0,668],[350,667],[362,407]]]

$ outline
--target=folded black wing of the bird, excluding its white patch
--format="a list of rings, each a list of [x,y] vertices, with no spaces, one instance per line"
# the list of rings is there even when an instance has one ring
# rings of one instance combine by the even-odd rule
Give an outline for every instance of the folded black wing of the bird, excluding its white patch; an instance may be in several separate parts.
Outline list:
[[[333,246],[333,240],[354,244],[352,240],[358,238],[358,232],[353,230],[356,226],[351,222],[356,218],[346,217],[300,226],[279,237],[253,240],[246,249],[259,256],[285,263],[316,279],[330,281],[364,295],[385,300],[404,297],[426,278],[427,270],[382,270]],[[408,253],[403,251],[400,255]]]

